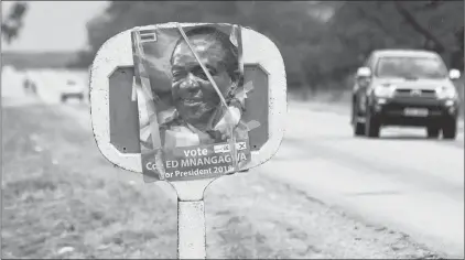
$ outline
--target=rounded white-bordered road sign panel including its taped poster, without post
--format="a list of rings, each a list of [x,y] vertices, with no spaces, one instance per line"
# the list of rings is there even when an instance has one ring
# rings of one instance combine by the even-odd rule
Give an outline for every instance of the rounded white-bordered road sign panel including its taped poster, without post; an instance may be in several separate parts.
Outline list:
[[[147,181],[213,180],[279,149],[285,71],[272,41],[247,28],[165,23],[108,40],[91,67],[95,138]]]

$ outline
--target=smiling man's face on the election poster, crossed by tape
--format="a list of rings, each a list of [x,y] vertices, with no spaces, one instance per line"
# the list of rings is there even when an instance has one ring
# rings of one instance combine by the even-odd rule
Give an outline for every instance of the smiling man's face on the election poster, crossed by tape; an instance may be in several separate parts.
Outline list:
[[[194,35],[190,42],[223,96],[226,96],[234,84],[228,74],[233,62],[226,50],[212,36]],[[173,99],[180,115],[186,120],[208,120],[220,99],[184,41],[174,48],[172,75]]]

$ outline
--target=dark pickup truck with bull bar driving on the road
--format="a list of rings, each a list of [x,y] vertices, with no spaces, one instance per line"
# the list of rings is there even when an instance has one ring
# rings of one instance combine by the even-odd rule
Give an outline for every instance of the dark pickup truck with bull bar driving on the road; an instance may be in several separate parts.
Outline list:
[[[378,138],[383,126],[424,127],[429,138],[455,139],[459,99],[453,79],[434,52],[374,51],[356,74],[352,93],[355,136]]]

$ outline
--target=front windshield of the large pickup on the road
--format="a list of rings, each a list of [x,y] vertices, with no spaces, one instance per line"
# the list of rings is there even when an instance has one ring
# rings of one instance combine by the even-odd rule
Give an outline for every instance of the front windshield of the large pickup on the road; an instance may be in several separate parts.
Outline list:
[[[381,57],[376,76],[440,79],[447,77],[447,69],[437,57]]]

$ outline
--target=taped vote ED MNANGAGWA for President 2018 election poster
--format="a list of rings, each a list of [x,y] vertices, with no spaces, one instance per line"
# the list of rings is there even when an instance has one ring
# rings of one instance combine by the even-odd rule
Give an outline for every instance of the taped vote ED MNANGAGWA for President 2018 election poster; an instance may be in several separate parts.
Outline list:
[[[250,162],[240,28],[134,29],[131,33],[145,181],[188,181]]]

